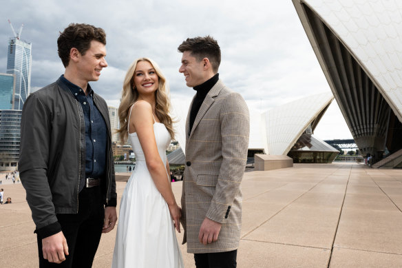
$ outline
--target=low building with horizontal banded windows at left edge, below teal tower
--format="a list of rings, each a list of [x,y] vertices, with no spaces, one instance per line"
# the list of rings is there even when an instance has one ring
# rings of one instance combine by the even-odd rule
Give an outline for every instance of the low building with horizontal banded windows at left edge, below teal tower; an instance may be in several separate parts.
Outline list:
[[[0,110],[0,169],[17,167],[21,115],[21,110]]]

